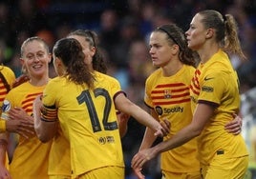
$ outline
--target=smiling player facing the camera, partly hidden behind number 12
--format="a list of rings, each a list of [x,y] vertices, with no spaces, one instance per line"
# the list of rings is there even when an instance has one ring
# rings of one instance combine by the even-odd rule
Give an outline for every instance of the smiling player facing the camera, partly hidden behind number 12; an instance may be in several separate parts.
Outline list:
[[[49,81],[48,70],[52,55],[48,45],[39,37],[31,37],[23,42],[21,46],[21,62],[27,70],[30,80],[11,89],[5,100],[10,102],[11,116],[16,119],[31,121],[32,102],[34,98],[43,92]],[[11,119],[9,119],[11,120]],[[29,127],[28,127],[29,129]],[[30,129],[29,129],[30,130]],[[0,134],[0,153],[6,152],[8,144],[8,132]],[[4,145],[5,144],[5,145]],[[43,144],[38,140],[34,132],[28,132],[27,137],[19,136],[18,146],[12,156],[10,173],[3,165],[0,165],[1,178],[28,178],[34,179],[38,176],[48,178],[48,159],[51,142]],[[0,155],[0,161],[4,161],[4,156]],[[2,164],[2,163],[1,163]]]

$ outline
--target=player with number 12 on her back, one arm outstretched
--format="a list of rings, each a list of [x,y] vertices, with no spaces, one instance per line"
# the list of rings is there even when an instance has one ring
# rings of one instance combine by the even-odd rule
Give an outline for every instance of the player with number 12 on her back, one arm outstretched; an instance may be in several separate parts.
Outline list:
[[[77,40],[65,38],[53,47],[58,77],[34,101],[35,129],[42,141],[55,136],[57,124],[70,143],[71,174],[79,178],[124,178],[116,109],[155,129],[168,131],[129,101],[116,79],[89,70]],[[41,112],[40,112],[41,111]]]

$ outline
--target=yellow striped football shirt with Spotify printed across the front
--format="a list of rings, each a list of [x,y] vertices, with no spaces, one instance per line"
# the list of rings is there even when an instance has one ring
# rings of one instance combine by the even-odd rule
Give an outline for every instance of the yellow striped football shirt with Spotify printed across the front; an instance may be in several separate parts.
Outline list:
[[[170,121],[170,137],[192,120],[189,86],[194,71],[193,67],[183,65],[175,75],[164,77],[162,70],[158,69],[146,80],[144,101],[155,109],[160,120]],[[171,172],[199,171],[196,139],[161,153],[161,169]]]

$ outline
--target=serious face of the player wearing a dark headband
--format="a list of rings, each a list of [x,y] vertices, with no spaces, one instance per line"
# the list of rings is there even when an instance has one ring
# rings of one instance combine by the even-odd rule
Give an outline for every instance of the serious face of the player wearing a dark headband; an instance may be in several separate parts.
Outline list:
[[[156,67],[163,67],[172,59],[172,47],[167,41],[167,34],[160,31],[154,31],[149,40],[151,59]]]

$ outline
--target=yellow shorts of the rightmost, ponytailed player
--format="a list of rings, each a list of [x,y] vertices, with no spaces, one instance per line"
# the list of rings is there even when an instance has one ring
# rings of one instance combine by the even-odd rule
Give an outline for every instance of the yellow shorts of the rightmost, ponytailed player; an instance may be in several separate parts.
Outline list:
[[[244,179],[248,167],[248,156],[224,158],[217,155],[209,166],[202,166],[203,179]]]

